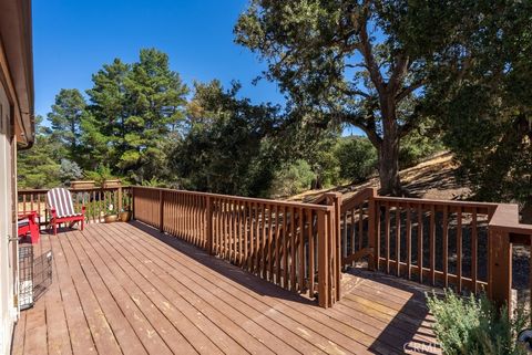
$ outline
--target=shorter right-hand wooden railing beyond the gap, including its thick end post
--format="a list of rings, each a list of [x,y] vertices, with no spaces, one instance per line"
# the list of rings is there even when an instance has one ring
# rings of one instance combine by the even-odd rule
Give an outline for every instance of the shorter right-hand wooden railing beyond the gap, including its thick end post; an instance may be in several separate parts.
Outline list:
[[[516,205],[381,197],[375,189],[344,200],[340,226],[344,267],[365,261],[457,292],[485,291],[509,306],[512,246],[532,240]]]

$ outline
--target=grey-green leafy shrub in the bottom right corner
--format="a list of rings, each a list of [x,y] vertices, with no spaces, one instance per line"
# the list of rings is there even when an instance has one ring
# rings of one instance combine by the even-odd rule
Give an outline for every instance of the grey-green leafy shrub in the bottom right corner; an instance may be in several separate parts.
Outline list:
[[[443,299],[427,296],[427,304],[436,319],[432,326],[446,355],[525,355],[516,335],[528,324],[523,310],[513,319],[504,307],[500,313],[481,295],[460,297],[446,291]]]

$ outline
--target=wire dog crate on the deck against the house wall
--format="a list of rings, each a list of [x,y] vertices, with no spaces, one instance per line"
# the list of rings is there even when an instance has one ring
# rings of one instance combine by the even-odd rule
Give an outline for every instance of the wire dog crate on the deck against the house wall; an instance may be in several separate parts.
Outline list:
[[[34,258],[33,246],[19,247],[19,306],[27,310],[52,283],[52,251]]]

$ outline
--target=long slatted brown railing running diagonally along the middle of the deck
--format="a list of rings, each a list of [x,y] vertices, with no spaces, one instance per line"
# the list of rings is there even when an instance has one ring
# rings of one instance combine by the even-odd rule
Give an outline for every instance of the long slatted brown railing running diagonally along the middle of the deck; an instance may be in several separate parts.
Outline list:
[[[340,200],[325,202],[133,187],[135,219],[327,307],[340,297]]]

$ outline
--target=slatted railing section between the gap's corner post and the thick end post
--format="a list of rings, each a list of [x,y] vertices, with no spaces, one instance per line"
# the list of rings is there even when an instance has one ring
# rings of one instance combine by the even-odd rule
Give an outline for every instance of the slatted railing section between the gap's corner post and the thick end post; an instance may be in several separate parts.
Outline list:
[[[379,270],[458,292],[487,286],[488,221],[497,205],[387,197],[375,203]]]

